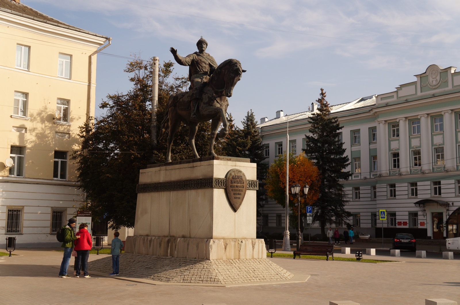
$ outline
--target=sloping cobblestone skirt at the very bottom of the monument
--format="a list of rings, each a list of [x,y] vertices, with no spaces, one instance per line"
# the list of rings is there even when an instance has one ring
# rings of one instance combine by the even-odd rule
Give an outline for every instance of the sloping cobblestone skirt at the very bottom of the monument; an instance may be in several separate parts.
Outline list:
[[[88,269],[105,274],[112,272],[111,256],[89,262]],[[132,253],[120,254],[120,274],[159,282],[224,286],[286,281],[294,276],[268,259],[199,260]]]

